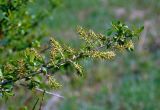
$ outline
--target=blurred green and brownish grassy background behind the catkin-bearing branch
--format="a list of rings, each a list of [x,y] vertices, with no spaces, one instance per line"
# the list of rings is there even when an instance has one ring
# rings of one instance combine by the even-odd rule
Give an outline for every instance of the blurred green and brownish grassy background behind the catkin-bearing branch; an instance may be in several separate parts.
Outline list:
[[[36,12],[47,11],[47,7],[45,0],[39,0],[36,6],[29,8]],[[46,94],[44,110],[160,109],[160,0],[61,0],[48,17],[39,22],[49,33],[47,36],[78,48],[81,42],[75,32],[77,25],[106,34],[114,20],[144,25],[135,50],[124,52],[109,62],[82,62],[84,78],[57,74],[63,87],[50,91],[65,98]],[[0,108],[32,108],[40,95],[42,93],[19,89],[13,98],[1,101]]]

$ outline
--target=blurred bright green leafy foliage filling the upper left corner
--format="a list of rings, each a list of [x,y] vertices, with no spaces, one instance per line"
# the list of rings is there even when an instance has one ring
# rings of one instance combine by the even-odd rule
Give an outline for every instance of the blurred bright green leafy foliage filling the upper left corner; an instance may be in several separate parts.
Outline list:
[[[3,54],[0,63],[16,58],[17,51],[32,47],[33,39],[41,41],[44,36],[49,36],[43,21],[60,4],[59,1],[1,0],[0,53]]]

